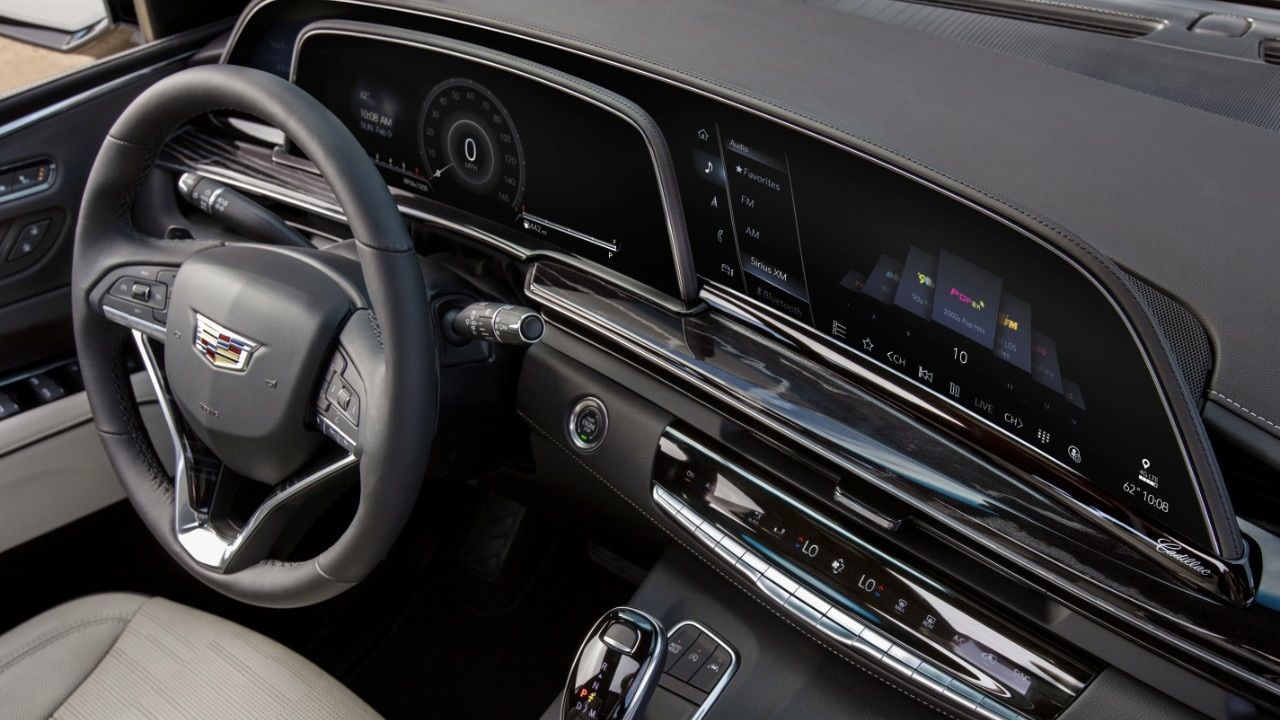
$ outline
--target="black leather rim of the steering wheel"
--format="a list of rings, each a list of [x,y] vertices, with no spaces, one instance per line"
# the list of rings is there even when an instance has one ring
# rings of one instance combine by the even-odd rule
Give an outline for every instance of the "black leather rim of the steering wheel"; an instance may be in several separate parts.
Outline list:
[[[360,501],[339,539],[312,560],[264,560],[219,573],[178,542],[173,479],[141,421],[123,361],[128,334],[90,296],[111,268],[173,264],[211,241],[148,237],[133,201],[164,142],[191,119],[241,111],[279,128],[316,165],[342,205],[381,346],[360,441]],[[230,65],[175,73],[140,95],[111,127],[88,177],[76,234],[73,314],[93,420],[143,523],[189,573],[255,605],[292,607],[330,598],[364,579],[390,548],[417,498],[435,429],[438,359],[426,291],[404,222],[387,184],[351,132],[314,97],[260,70]]]

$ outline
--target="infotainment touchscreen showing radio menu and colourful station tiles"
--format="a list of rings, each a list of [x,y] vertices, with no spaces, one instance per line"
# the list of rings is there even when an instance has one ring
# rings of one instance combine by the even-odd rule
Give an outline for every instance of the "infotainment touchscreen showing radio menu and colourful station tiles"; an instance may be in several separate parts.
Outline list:
[[[1048,246],[746,114],[664,118],[699,275],[809,325],[1047,456],[1123,521],[1215,537],[1152,373]]]

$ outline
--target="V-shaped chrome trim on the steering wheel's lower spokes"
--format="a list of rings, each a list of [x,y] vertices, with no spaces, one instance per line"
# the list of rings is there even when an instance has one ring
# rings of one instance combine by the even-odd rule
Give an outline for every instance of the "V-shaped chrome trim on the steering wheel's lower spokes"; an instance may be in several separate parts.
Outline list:
[[[173,474],[173,488],[174,488],[174,533],[178,537],[178,542],[182,544],[183,550],[201,565],[223,573],[230,565],[236,553],[239,552],[244,543],[244,539],[253,534],[253,532],[262,524],[268,515],[270,515],[276,507],[283,502],[302,495],[305,491],[323,483],[324,480],[340,474],[343,470],[351,468],[356,464],[355,455],[347,455],[319,468],[317,470],[305,475],[297,482],[289,484],[284,489],[271,495],[266,498],[253,511],[248,521],[236,537],[227,537],[218,532],[210,521],[209,516],[197,512],[191,505],[191,487],[189,487],[189,465],[191,465],[191,448],[187,439],[183,437],[182,432],[178,429],[177,413],[173,407],[172,396],[169,395],[169,386],[160,372],[160,365],[156,361],[155,352],[151,348],[151,343],[147,342],[147,336],[141,331],[132,331],[133,342],[138,348],[138,354],[142,356],[142,365],[146,368],[147,377],[151,379],[151,388],[156,393],[156,402],[160,405],[160,414],[164,416],[165,428],[169,430],[169,438],[173,441],[174,457],[177,459],[177,465],[174,466]]]

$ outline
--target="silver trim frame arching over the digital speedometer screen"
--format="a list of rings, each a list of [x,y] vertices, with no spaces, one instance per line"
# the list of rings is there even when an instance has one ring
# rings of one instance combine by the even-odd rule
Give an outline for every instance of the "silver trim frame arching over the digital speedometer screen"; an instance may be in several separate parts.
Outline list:
[[[417,32],[417,31],[406,31],[406,32]],[[584,95],[584,94],[573,90],[572,87],[570,87],[567,85],[552,82],[552,81],[549,81],[547,78],[541,78],[541,77],[538,77],[535,74],[526,73],[526,72],[521,70],[517,67],[513,67],[513,65],[509,65],[509,64],[504,64],[502,61],[502,58],[507,55],[506,53],[500,53],[500,51],[497,51],[497,50],[489,50],[486,47],[476,46],[476,47],[479,47],[481,50],[485,50],[486,53],[492,53],[495,56],[488,56],[488,55],[479,55],[479,54],[467,54],[467,53],[452,50],[452,49],[448,49],[448,47],[439,47],[436,45],[430,45],[430,44],[426,44],[426,42],[415,42],[415,41],[407,40],[407,38],[402,38],[402,37],[393,37],[393,36],[387,36],[387,35],[376,35],[376,33],[371,33],[371,32],[358,32],[358,31],[352,31],[352,29],[328,28],[328,27],[320,27],[320,28],[307,27],[307,28],[303,28],[302,33],[298,36],[297,41],[293,44],[293,60],[292,60],[291,67],[289,67],[289,82],[294,82],[294,79],[297,77],[298,56],[302,53],[302,45],[308,38],[315,37],[315,36],[320,36],[320,35],[334,35],[334,36],[343,36],[343,37],[362,37],[362,38],[367,38],[367,40],[378,40],[378,41],[381,41],[381,42],[389,42],[389,44],[393,44],[393,45],[402,45],[402,46],[406,46],[406,47],[417,47],[420,50],[428,50],[428,51],[433,51],[433,53],[439,53],[442,55],[449,55],[449,56],[460,58],[462,60],[467,60],[467,61],[476,63],[476,64],[480,64],[480,65],[485,65],[485,67],[490,67],[490,68],[494,68],[494,69],[504,70],[504,72],[508,72],[511,74],[515,74],[515,76],[530,79],[532,82],[536,82],[539,85],[559,90],[561,92],[563,92],[566,95],[570,95],[572,97],[576,97],[576,99],[581,100],[582,102],[586,102],[589,105],[594,105],[594,106],[596,106],[596,108],[599,108],[602,110],[612,113],[613,115],[617,115],[620,119],[622,119],[623,122],[626,122],[627,124],[630,124],[631,127],[634,127],[636,129],[636,132],[640,133],[640,137],[644,140],[645,147],[649,151],[649,160],[653,164],[654,177],[658,181],[658,195],[662,199],[662,213],[663,213],[663,219],[664,219],[664,222],[667,224],[667,242],[671,246],[671,259],[672,259],[672,264],[675,265],[675,270],[676,270],[676,284],[677,284],[677,287],[680,290],[680,299],[685,300],[685,301],[689,301],[689,302],[692,302],[696,299],[696,296],[698,296],[698,277],[696,277],[696,274],[694,272],[694,260],[692,260],[692,252],[691,252],[690,245],[689,245],[689,233],[687,233],[687,229],[685,228],[685,209],[684,209],[684,205],[681,204],[680,191],[678,191],[678,186],[676,184],[676,178],[672,174],[673,170],[675,170],[675,163],[672,161],[672,159],[671,159],[671,151],[667,147],[667,138],[662,135],[662,131],[658,128],[658,123],[653,118],[650,118],[649,114],[644,109],[641,109],[637,105],[632,105],[634,111],[636,111],[639,114],[644,114],[649,119],[649,123],[653,126],[653,132],[649,132],[648,129],[645,129],[644,127],[641,127],[639,123],[636,123],[635,119],[632,119],[630,115],[627,115],[626,113],[618,110],[616,106],[613,106],[613,105],[611,105],[608,102],[602,102],[602,101],[599,101],[599,100],[596,100],[594,97]],[[462,42],[462,41],[456,41],[456,40],[451,40],[451,38],[444,38],[444,40],[449,40],[451,42]],[[465,42],[463,45],[471,45],[471,44]],[[526,60],[526,61],[529,61],[529,60]],[[529,63],[530,64],[536,64],[536,63],[532,63],[532,61],[529,61]],[[538,65],[538,67],[543,67],[543,65]],[[552,73],[556,73],[556,70],[552,70],[550,68],[548,68],[548,70],[550,70]],[[591,85],[593,87],[599,87],[599,86],[595,86],[594,83],[588,83],[586,81],[579,81],[579,82],[582,82],[584,85]],[[599,90],[603,94],[605,94],[605,95],[613,95],[613,96],[616,96],[616,94],[613,91],[611,91],[611,90],[608,90],[605,87],[599,87]],[[618,97],[621,99],[621,96],[618,96]],[[622,100],[625,100],[625,99],[622,99]],[[662,163],[663,159],[667,160],[666,165]],[[663,172],[664,167],[671,168],[672,172],[671,173]],[[558,225],[558,227],[562,227],[562,225]],[[581,234],[581,233],[573,233],[573,234]],[[599,243],[599,241],[594,241],[594,242]]]

